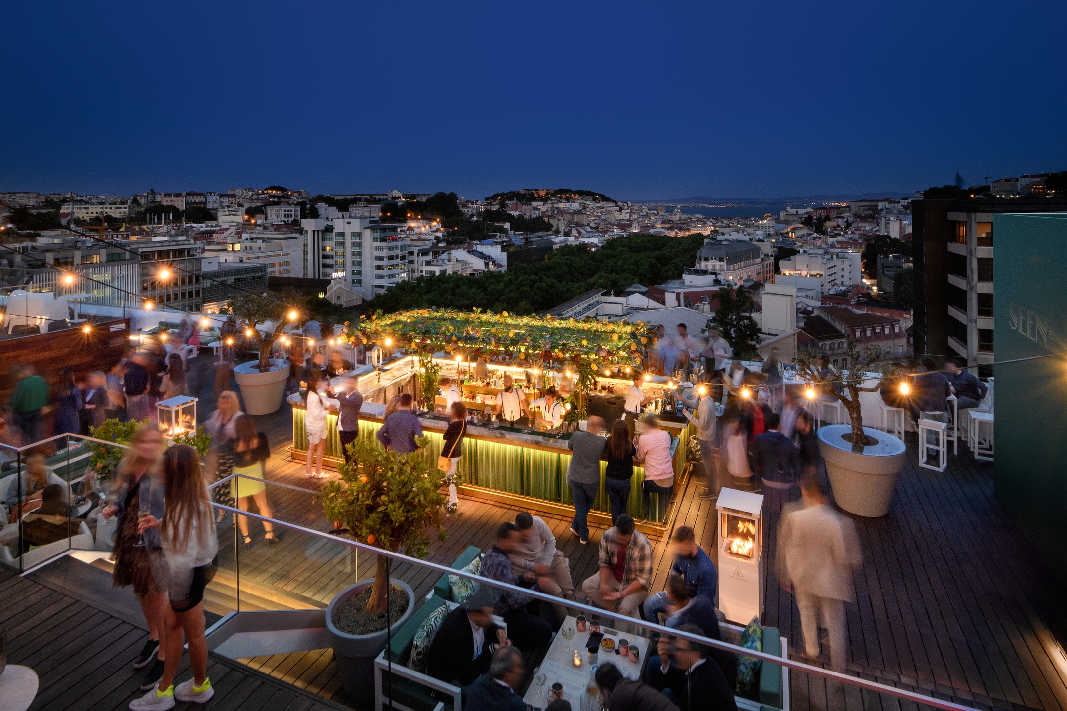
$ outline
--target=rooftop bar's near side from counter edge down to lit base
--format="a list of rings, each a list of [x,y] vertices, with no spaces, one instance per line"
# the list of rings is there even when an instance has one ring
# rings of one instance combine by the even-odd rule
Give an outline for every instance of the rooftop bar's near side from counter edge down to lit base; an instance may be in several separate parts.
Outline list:
[[[339,383],[340,378],[337,378],[337,382]],[[290,453],[294,459],[303,460],[307,451],[304,402],[300,394],[293,393],[289,397],[289,404],[292,406]],[[335,402],[334,405],[336,406]],[[385,405],[365,401],[360,414],[360,434],[377,433],[384,413]],[[419,421],[424,434],[430,438],[427,455],[436,460],[448,419],[441,415],[423,413],[419,415]],[[675,491],[679,491],[688,473],[685,450],[690,425],[687,422],[664,421],[663,426],[679,440],[674,453],[674,487]],[[567,467],[571,460],[567,442],[570,437],[570,433],[540,433],[506,425],[468,422],[463,440],[463,456],[457,469],[459,479],[457,485],[460,492],[545,513],[572,515],[573,501],[570,487],[567,485]],[[327,415],[325,456],[332,464],[344,460],[337,432],[337,416],[333,414]],[[601,462],[601,487],[593,511],[590,512],[590,519],[609,526],[610,506],[604,491],[605,466],[606,463]],[[643,481],[644,468],[635,465],[627,513],[639,522],[640,528],[658,532],[669,523],[673,506],[667,501],[659,501],[658,505],[654,506],[656,511],[649,512],[650,515],[646,517],[641,500]],[[653,496],[653,502],[660,498]]]

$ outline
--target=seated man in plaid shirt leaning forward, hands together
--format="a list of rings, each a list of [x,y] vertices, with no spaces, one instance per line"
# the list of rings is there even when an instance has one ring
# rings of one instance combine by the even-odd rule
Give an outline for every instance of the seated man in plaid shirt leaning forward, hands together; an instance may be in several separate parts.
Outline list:
[[[582,583],[586,597],[605,610],[636,617],[652,584],[652,544],[634,530],[634,519],[623,514],[604,532],[600,569]]]

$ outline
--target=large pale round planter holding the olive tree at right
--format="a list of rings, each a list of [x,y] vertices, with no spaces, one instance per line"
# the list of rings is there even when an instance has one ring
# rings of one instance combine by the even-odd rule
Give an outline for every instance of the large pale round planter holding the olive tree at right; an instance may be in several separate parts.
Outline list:
[[[864,434],[878,443],[854,448],[844,439],[851,431],[848,424],[829,424],[817,433],[833,500],[849,514],[885,516],[893,500],[896,476],[904,468],[904,442],[880,430],[863,427]]]

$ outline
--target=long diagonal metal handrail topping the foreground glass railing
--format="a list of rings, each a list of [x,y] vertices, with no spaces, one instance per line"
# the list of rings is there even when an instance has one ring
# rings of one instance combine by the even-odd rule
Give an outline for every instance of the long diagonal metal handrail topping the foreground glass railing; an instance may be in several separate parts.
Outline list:
[[[235,474],[230,474],[225,480],[220,480],[218,482],[218,484],[221,484],[223,481],[227,481],[229,479],[233,479],[233,476],[235,476]],[[273,484],[273,482],[267,482],[267,483],[268,484]],[[299,487],[290,487],[290,488],[298,488],[299,489]],[[303,490],[306,490],[306,489],[303,489]],[[370,554],[373,554],[373,555],[382,555],[382,556],[391,559],[391,560],[402,561],[402,562],[410,563],[410,564],[415,565],[415,566],[421,566],[424,568],[430,568],[431,570],[435,570],[437,572],[441,572],[441,573],[447,575],[447,576],[457,576],[459,578],[466,578],[467,580],[473,580],[475,582],[478,582],[479,584],[489,585],[490,587],[495,587],[495,588],[498,588],[498,589],[506,589],[506,591],[512,591],[512,592],[515,592],[515,593],[520,593],[522,595],[526,595],[526,596],[531,597],[534,599],[541,600],[542,602],[550,602],[552,604],[559,604],[560,603],[560,598],[554,597],[554,596],[548,595],[546,593],[541,593],[539,591],[529,589],[529,588],[525,588],[525,587],[520,587],[520,586],[513,585],[511,583],[505,583],[505,582],[500,582],[498,580],[493,580],[492,578],[483,578],[481,576],[478,576],[478,575],[475,575],[475,573],[472,573],[472,572],[467,572],[465,570],[447,567],[447,566],[442,565],[440,563],[431,563],[429,561],[423,561],[423,560],[419,560],[417,558],[411,558],[410,555],[404,555],[403,553],[396,553],[396,552],[393,552],[393,551],[389,551],[389,550],[385,550],[383,548],[377,548],[375,546],[370,546],[370,545],[367,545],[367,544],[356,543],[356,542],[351,540],[349,538],[341,538],[339,536],[331,535],[329,533],[323,533],[321,531],[316,531],[314,529],[308,529],[308,528],[300,526],[298,523],[288,523],[286,521],[281,521],[281,520],[278,520],[276,518],[268,518],[267,516],[260,516],[259,514],[253,514],[252,512],[240,511],[239,508],[234,508],[233,506],[227,506],[225,504],[220,504],[220,503],[211,502],[211,505],[216,506],[216,507],[218,507],[218,508],[220,508],[222,511],[230,512],[230,513],[233,513],[235,515],[238,515],[238,516],[248,516],[248,517],[254,518],[254,519],[259,520],[259,521],[270,522],[270,523],[274,524],[274,526],[281,526],[283,528],[290,529],[290,530],[293,530],[293,531],[299,531],[301,533],[306,533],[306,534],[312,535],[312,536],[316,536],[316,537],[323,538],[323,539],[327,539],[327,540],[333,540],[333,542],[339,543],[339,544],[341,544],[344,546],[348,546],[350,548],[354,548],[355,550],[362,550],[362,551],[364,551],[366,553],[370,553]],[[626,625],[634,625],[634,626],[637,626],[637,627],[644,628],[644,629],[649,630],[650,632],[658,632],[660,634],[668,634],[668,635],[671,635],[671,636],[682,637],[684,640],[688,640],[689,642],[692,642],[692,643],[696,643],[696,644],[701,644],[701,645],[704,645],[706,647],[714,647],[716,649],[722,649],[722,650],[726,650],[726,651],[729,651],[729,652],[732,652],[732,653],[739,653],[739,655],[744,655],[745,657],[752,657],[753,659],[759,659],[759,660],[761,660],[763,662],[766,662],[766,663],[769,663],[769,664],[779,664],[781,666],[787,667],[790,669],[794,669],[796,672],[802,672],[805,674],[813,674],[815,676],[823,677],[825,679],[829,679],[829,680],[832,680],[832,681],[840,681],[840,682],[845,683],[845,684],[849,684],[849,685],[853,685],[853,686],[859,686],[860,689],[866,689],[869,691],[877,692],[877,693],[880,693],[880,694],[889,694],[891,696],[895,696],[897,698],[903,698],[903,699],[906,699],[908,701],[913,701],[915,704],[924,704],[926,706],[933,706],[933,707],[938,708],[938,709],[945,709],[945,711],[973,711],[972,707],[964,706],[961,704],[954,704],[952,701],[944,701],[944,700],[941,700],[941,699],[938,699],[938,698],[934,698],[933,696],[925,696],[925,695],[919,694],[917,692],[906,691],[906,690],[903,690],[903,689],[896,689],[895,686],[888,686],[886,684],[880,684],[880,683],[878,683],[876,681],[867,681],[866,679],[860,679],[858,677],[853,677],[853,676],[849,676],[847,674],[843,674],[841,672],[834,672],[832,669],[824,669],[821,666],[812,666],[810,664],[805,664],[803,662],[796,662],[796,661],[793,661],[791,659],[784,659],[782,657],[776,657],[774,655],[768,655],[768,653],[763,652],[763,651],[757,651],[755,649],[748,649],[748,648],[745,648],[745,647],[738,647],[737,645],[732,645],[732,644],[730,644],[728,642],[719,642],[717,640],[708,640],[707,637],[703,637],[703,636],[700,636],[700,635],[697,635],[697,634],[691,634],[689,632],[684,632],[682,630],[676,630],[676,629],[673,629],[673,628],[670,628],[670,627],[664,627],[663,625],[657,625],[657,624],[654,624],[654,623],[648,623],[646,620],[638,619],[638,618],[635,618],[635,617],[627,617],[625,615],[620,615],[618,613],[610,612],[610,611],[607,611],[607,610],[603,610],[603,609],[600,609],[600,608],[593,608],[593,607],[590,607],[590,605],[587,605],[587,604],[582,604],[580,602],[576,602],[574,600],[566,600],[564,604],[568,608],[576,608],[576,609],[582,610],[582,611],[584,611],[586,613],[592,614],[592,615],[594,615],[596,617],[608,617],[610,619],[615,619],[615,620],[624,623]]]

